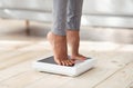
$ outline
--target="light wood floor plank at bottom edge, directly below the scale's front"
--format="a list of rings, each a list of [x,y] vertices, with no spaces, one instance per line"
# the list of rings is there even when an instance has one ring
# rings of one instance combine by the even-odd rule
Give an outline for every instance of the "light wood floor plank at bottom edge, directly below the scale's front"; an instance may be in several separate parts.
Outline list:
[[[64,76],[55,76],[55,75],[50,75],[47,78],[42,78],[39,80],[39,82],[33,82],[32,85],[29,85],[24,88],[58,88],[58,86],[65,84],[68,80],[71,80],[73,78],[71,77],[64,77]],[[65,84],[66,85],[66,84]],[[63,88],[63,87],[62,87]]]

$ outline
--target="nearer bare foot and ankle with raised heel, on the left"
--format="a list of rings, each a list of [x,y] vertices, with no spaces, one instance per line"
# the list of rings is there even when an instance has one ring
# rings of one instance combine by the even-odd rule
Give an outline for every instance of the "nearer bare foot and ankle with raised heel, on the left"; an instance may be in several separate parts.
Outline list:
[[[48,33],[48,40],[50,41],[54,61],[61,66],[73,66],[74,61],[68,59],[68,48],[66,48],[66,37],[65,36],[58,36],[52,32]]]

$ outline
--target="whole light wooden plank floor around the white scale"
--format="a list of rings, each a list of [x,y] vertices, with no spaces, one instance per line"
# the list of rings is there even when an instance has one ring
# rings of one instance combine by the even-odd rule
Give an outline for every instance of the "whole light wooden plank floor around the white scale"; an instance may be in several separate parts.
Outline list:
[[[133,45],[81,41],[80,51],[98,60],[94,69],[75,78],[42,74],[31,63],[52,55],[47,40],[0,38],[0,88],[133,88]]]

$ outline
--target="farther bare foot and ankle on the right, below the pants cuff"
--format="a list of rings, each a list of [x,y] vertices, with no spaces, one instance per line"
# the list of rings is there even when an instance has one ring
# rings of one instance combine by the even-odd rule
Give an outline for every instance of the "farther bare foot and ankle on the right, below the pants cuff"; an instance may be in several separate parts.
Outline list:
[[[85,60],[86,57],[79,53],[79,47],[80,47],[79,31],[68,30],[66,40],[71,48],[71,59]]]

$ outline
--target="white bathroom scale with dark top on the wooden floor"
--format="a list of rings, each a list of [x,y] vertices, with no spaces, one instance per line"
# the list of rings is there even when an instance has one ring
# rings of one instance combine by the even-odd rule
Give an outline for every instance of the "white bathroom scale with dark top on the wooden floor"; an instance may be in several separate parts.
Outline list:
[[[86,58],[86,60],[76,60],[74,66],[60,66],[53,60],[53,57],[42,58],[33,62],[33,68],[38,71],[59,74],[64,76],[79,76],[89,69],[93,68],[95,65],[95,59]]]

